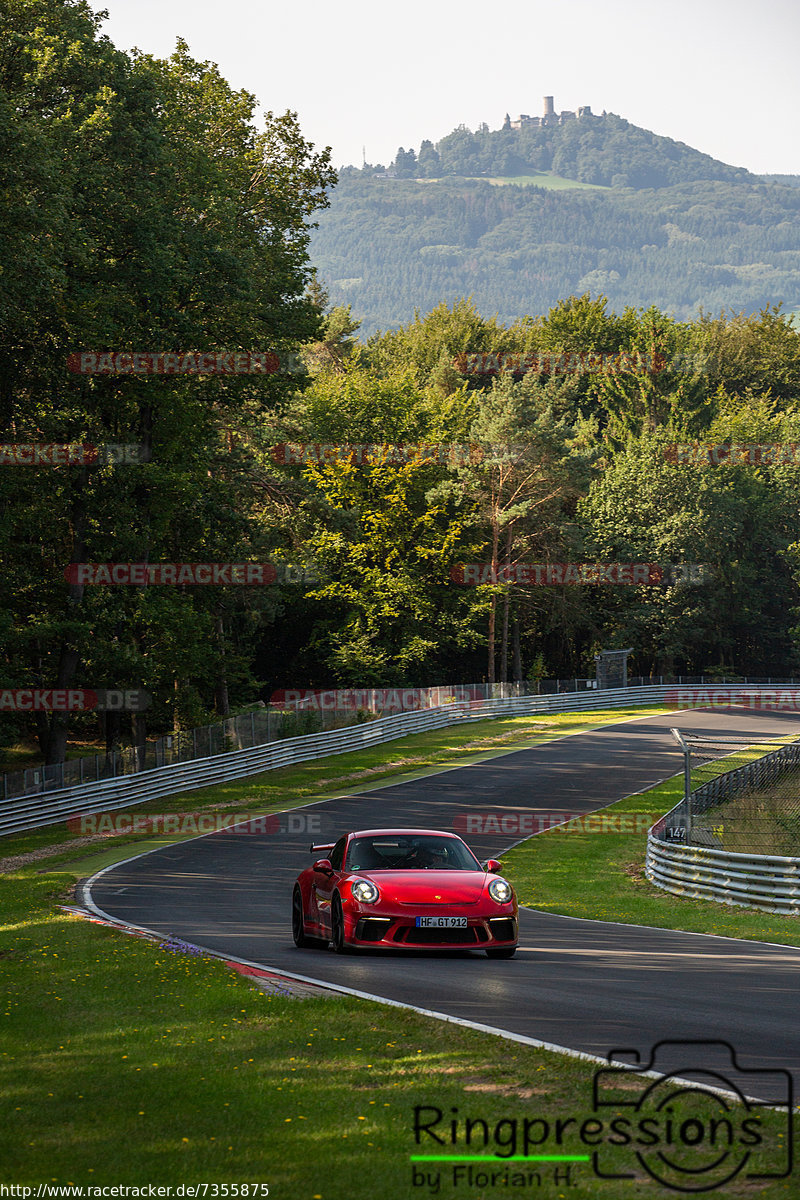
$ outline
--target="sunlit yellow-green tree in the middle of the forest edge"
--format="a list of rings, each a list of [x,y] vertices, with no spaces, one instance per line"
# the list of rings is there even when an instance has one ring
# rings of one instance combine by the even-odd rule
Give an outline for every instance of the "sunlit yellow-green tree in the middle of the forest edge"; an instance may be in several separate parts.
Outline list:
[[[461,493],[439,493],[447,464],[419,449],[459,440],[465,404],[463,391],[445,400],[408,370],[378,378],[350,364],[318,374],[287,414],[293,440],[341,448],[285,472],[305,491],[291,524],[323,576],[302,662],[312,682],[447,682],[450,661],[471,647],[471,613],[450,587],[450,568],[469,548],[469,505]],[[389,449],[348,450],[365,445]],[[395,446],[404,448],[399,457]]]

